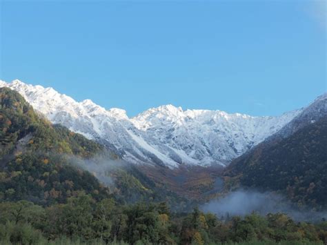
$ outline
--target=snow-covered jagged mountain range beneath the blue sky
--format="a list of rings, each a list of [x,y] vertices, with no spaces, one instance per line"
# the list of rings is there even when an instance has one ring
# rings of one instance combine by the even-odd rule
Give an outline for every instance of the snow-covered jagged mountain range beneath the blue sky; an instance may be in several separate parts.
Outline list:
[[[302,111],[294,110],[279,117],[251,117],[167,105],[128,118],[125,110],[106,110],[89,99],[77,102],[53,88],[19,80],[0,81],[0,87],[3,86],[17,90],[52,123],[107,144],[126,161],[170,168],[179,164],[226,166],[277,133]]]

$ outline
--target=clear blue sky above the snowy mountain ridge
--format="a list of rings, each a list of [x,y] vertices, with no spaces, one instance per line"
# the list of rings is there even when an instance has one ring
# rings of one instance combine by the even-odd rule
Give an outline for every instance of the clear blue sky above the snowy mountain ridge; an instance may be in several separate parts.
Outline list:
[[[279,115],[326,92],[326,1],[0,1],[0,79],[130,116]]]

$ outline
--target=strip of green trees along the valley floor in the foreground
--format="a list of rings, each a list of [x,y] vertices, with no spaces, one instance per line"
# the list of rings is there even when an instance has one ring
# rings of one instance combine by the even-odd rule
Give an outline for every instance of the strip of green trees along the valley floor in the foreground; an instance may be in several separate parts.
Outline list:
[[[165,203],[120,206],[86,194],[47,208],[3,202],[0,210],[2,244],[324,244],[327,238],[327,222],[296,223],[281,213],[217,218],[198,208],[177,214]]]

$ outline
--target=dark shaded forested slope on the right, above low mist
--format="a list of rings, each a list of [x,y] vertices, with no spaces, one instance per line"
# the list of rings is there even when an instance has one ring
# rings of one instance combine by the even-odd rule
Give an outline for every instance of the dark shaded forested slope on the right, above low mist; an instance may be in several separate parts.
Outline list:
[[[226,175],[234,179],[230,181],[281,191],[299,206],[326,207],[327,115],[319,117],[288,137],[272,137],[232,161],[226,169]]]

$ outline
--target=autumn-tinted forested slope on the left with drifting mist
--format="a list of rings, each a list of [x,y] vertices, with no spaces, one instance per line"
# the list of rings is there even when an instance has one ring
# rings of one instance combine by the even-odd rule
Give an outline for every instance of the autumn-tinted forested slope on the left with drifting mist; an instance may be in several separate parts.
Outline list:
[[[50,205],[85,192],[121,204],[152,200],[174,210],[188,207],[188,200],[114,158],[101,144],[37,115],[18,92],[0,88],[0,202]]]

